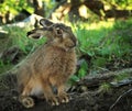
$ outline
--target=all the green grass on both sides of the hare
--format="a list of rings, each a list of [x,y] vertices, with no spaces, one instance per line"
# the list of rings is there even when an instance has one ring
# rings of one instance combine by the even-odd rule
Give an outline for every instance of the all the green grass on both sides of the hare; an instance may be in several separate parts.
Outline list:
[[[127,63],[130,63],[132,58],[132,19],[98,23],[78,22],[69,25],[79,42],[77,46],[78,59],[82,55],[90,57],[90,59],[84,58],[80,68],[73,77],[74,80],[85,77],[89,70],[97,74],[100,69],[131,67]],[[7,48],[15,45],[26,55],[45,42],[45,37],[38,41],[28,38],[26,32],[30,29],[26,27],[13,26],[4,27],[4,30],[9,32]],[[2,69],[8,69],[6,67],[10,67],[10,64],[0,63],[0,73],[3,71]]]

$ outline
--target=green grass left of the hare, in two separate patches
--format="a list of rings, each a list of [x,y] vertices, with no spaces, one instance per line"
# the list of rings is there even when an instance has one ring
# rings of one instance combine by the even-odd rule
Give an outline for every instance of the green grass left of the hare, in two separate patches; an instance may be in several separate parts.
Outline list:
[[[9,34],[6,48],[10,48],[11,46],[16,46],[25,55],[34,52],[36,47],[38,47],[41,44],[44,44],[44,42],[46,41],[45,37],[41,40],[29,38],[26,36],[26,32],[29,31],[29,27],[22,29],[19,26],[4,26],[3,30],[7,31]],[[3,63],[3,60],[0,59],[0,74],[10,69],[11,67],[13,67],[12,63],[10,62]]]

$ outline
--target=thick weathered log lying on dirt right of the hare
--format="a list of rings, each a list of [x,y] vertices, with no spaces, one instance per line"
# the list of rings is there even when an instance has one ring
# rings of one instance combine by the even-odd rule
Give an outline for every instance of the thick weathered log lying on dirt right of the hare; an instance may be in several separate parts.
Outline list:
[[[110,71],[110,73],[106,73],[106,74],[99,74],[97,76],[87,76],[85,77],[85,79],[80,80],[77,82],[77,85],[79,86],[87,86],[87,87],[97,87],[100,86],[103,82],[111,82],[111,85],[113,87],[118,86],[118,82],[112,82],[112,80],[117,77],[117,76],[121,76],[121,75],[127,75],[128,77],[132,76],[132,68],[127,68],[127,69],[122,69],[122,70],[117,70],[117,71]],[[122,84],[120,85],[125,85],[125,84],[131,84],[132,79],[129,81],[122,81]],[[119,86],[120,86],[119,85]]]

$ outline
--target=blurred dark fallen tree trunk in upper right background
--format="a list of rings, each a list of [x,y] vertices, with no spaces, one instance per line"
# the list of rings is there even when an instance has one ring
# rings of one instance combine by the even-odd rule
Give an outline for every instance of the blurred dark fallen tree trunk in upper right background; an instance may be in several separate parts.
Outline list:
[[[78,12],[78,9],[80,5],[86,5],[91,12],[94,12],[96,15],[98,15],[100,19],[109,19],[109,18],[129,18],[131,15],[132,10],[118,10],[116,5],[111,4],[110,2],[107,2],[111,9],[105,10],[105,3],[100,0],[72,0],[70,3],[67,3],[66,0],[63,0],[62,2],[58,2],[58,4],[54,8],[52,13],[58,12],[59,7],[63,8],[62,13],[59,13],[58,19],[64,18],[66,14],[69,16],[69,21],[76,21],[82,19],[80,16],[80,13]],[[65,14],[65,10],[69,9],[69,11]],[[102,15],[103,12],[103,15]],[[50,18],[52,16],[52,13],[50,14]],[[84,20],[84,19],[82,19]]]

